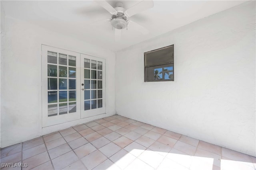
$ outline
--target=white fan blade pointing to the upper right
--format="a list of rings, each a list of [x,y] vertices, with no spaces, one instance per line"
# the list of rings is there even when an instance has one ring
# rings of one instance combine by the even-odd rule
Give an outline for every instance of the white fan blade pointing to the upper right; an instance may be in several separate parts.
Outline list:
[[[152,0],[142,0],[138,4],[132,6],[128,10],[124,12],[124,15],[127,17],[133,16],[139,12],[152,8],[154,6],[154,2]]]

